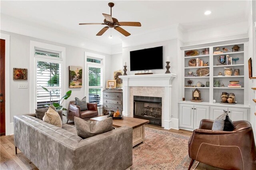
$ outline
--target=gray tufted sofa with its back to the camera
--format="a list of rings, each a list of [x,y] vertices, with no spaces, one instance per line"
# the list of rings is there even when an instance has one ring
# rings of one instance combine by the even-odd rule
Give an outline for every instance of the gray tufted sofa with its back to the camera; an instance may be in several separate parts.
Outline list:
[[[62,128],[36,118],[14,116],[14,143],[40,170],[125,170],[132,166],[132,128],[82,139],[73,126]]]

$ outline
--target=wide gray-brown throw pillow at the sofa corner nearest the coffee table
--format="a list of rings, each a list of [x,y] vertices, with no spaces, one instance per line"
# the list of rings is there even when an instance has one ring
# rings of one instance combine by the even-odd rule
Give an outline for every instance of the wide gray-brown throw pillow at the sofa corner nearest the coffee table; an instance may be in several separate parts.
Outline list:
[[[112,118],[106,118],[102,121],[84,121],[79,117],[74,117],[77,135],[81,138],[90,138],[97,134],[112,130]]]

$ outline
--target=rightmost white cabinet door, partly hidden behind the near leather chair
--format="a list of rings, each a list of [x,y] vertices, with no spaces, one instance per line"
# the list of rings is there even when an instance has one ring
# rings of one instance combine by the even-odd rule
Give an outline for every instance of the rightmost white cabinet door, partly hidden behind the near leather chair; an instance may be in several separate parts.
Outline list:
[[[228,108],[228,116],[232,121],[248,121],[247,109]]]

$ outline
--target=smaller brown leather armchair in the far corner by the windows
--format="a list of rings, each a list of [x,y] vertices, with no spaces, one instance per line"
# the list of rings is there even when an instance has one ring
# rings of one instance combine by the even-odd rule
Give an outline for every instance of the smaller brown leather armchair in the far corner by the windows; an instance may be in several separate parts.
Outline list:
[[[80,117],[84,120],[98,117],[97,103],[87,103],[87,109],[88,110],[86,111],[80,111],[80,107],[76,105],[76,102],[70,101],[68,105],[67,119],[74,121],[74,117]]]

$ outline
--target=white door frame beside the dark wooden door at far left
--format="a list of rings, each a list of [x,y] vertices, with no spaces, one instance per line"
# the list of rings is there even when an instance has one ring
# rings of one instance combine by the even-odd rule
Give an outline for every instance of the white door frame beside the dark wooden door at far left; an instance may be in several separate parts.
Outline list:
[[[1,39],[5,40],[5,135],[7,136],[14,131],[10,123],[10,35],[1,33]]]

